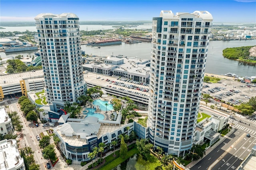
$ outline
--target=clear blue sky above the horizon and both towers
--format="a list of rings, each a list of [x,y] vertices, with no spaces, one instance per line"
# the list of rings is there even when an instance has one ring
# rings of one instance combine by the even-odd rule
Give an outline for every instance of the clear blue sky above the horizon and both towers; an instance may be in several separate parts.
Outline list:
[[[0,22],[71,12],[80,21],[151,21],[161,10],[208,11],[215,23],[256,23],[256,0],[0,0]]]

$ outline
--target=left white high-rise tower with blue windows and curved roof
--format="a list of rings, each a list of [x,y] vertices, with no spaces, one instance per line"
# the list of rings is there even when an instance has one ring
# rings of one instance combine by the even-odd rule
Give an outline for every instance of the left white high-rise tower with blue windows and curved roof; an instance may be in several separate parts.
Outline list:
[[[86,91],[79,18],[72,13],[43,13],[35,20],[48,103],[72,103]]]

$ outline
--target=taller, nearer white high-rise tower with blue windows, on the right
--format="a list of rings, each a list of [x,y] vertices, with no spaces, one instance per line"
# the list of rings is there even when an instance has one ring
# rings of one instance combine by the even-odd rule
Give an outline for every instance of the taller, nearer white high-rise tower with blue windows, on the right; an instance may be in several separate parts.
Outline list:
[[[207,11],[153,18],[149,139],[167,154],[192,147],[212,19]]]

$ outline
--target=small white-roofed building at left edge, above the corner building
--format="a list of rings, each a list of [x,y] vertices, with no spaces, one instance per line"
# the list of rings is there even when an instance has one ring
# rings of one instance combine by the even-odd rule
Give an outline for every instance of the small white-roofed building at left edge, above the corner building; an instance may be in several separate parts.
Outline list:
[[[4,106],[0,107],[0,128],[0,133],[2,135],[12,134],[14,132],[12,120],[6,113]]]

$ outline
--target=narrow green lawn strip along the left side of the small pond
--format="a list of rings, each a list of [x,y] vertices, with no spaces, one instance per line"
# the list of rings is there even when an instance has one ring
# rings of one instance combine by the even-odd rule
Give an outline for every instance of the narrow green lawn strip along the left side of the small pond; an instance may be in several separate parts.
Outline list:
[[[118,154],[117,154],[118,152]],[[122,162],[124,162],[126,159],[130,158],[131,156],[133,156],[134,154],[138,153],[138,149],[137,148],[133,148],[132,150],[127,152],[127,155],[125,156],[125,158],[121,158],[119,157],[119,151],[116,151],[116,157],[118,156],[118,158],[116,158],[115,160],[113,160],[113,154],[111,154],[110,156],[107,156],[105,158],[106,162],[106,166],[103,166],[101,168],[99,168],[99,170],[111,170],[112,168],[118,166],[119,164],[121,164]],[[109,162],[109,163],[108,163]]]

